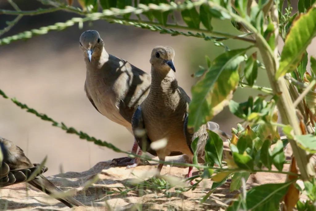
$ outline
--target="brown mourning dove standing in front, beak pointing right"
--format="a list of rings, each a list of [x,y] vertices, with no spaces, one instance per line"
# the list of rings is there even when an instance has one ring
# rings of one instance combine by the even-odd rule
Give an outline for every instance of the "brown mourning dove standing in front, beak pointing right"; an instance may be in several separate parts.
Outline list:
[[[199,137],[197,155],[204,152],[208,133],[206,129],[219,132],[218,124],[209,122],[191,134],[187,130],[188,105],[191,101],[185,91],[178,86],[174,76],[174,50],[167,46],[156,46],[151,52],[151,88],[147,98],[135,111],[132,117],[132,129],[135,139],[141,149],[158,156],[164,161],[171,152],[181,152],[189,157],[192,163],[193,151],[191,143]],[[146,133],[143,133],[143,132]],[[165,146],[153,149],[151,144],[167,140]],[[163,164],[158,165],[160,173]],[[131,166],[133,167],[133,166]],[[189,167],[187,177],[192,176],[192,167]]]

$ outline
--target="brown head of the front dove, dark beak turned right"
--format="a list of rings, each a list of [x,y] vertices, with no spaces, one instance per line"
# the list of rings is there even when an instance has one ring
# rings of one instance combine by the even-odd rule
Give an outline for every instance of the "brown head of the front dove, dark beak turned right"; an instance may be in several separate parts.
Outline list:
[[[158,70],[175,72],[173,65],[174,50],[169,46],[156,46],[151,52],[150,64]]]

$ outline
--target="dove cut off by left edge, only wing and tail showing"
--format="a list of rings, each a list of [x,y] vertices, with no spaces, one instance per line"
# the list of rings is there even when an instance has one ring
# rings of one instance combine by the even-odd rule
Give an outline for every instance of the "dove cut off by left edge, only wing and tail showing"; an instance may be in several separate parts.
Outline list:
[[[40,164],[32,164],[25,156],[23,150],[12,141],[0,137],[0,147],[0,154],[2,154],[0,156],[2,157],[0,159],[0,187],[27,182],[48,195],[63,191],[42,175],[48,170],[47,167],[43,166],[38,169]],[[34,172],[36,177],[29,180],[31,179],[30,176],[33,178],[32,173]],[[84,206],[84,204],[70,196],[60,196],[60,198],[56,199],[70,208],[73,205]]]

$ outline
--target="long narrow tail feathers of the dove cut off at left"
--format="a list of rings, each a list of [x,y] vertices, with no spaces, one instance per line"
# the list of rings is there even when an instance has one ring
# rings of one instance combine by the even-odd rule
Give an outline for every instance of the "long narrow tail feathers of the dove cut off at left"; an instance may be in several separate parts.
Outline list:
[[[33,180],[28,181],[29,184],[33,185],[35,188],[43,191],[48,195],[52,195],[56,191],[63,191],[62,189],[56,187],[52,182],[50,182],[46,177],[40,175],[35,177]],[[66,206],[72,208],[72,204],[75,206],[84,206],[81,202],[77,201],[71,196],[64,196],[62,198],[56,198],[58,201],[64,203]]]

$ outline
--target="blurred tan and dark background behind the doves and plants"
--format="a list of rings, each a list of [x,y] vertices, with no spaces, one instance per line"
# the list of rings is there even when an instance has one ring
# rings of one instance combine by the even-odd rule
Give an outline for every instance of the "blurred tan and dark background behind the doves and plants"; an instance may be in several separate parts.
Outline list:
[[[45,8],[35,0],[15,1],[22,10]],[[296,11],[294,3],[294,11]],[[0,0],[1,9],[13,9],[6,0]],[[14,35],[25,30],[65,22],[77,16],[67,12],[54,12],[39,16],[24,16],[8,33],[0,38]],[[15,16],[0,15],[0,29]],[[230,21],[213,20],[215,31],[238,33]],[[89,26],[90,25],[90,26]],[[212,41],[203,39],[159,34],[149,30],[109,24],[105,21],[84,23],[63,31],[51,31],[48,34],[19,40],[10,45],[0,46],[0,89],[8,96],[16,97],[20,102],[54,120],[64,122],[90,136],[113,143],[123,150],[131,150],[133,136],[122,126],[111,122],[98,113],[88,101],[84,91],[85,63],[79,49],[80,34],[89,29],[98,30],[105,41],[108,53],[128,60],[131,64],[150,73],[149,55],[156,45],[169,45],[174,48],[179,85],[191,96],[191,86],[196,79],[191,73],[198,65],[206,66],[205,55],[214,59],[223,52]],[[247,43],[237,40],[224,41],[231,49]],[[309,56],[315,55],[315,40],[308,48]],[[309,65],[308,65],[309,68]],[[269,86],[264,70],[259,70],[257,84]],[[242,102],[249,95],[256,95],[250,89],[238,89],[234,100]],[[239,121],[226,108],[213,121],[219,123],[222,130],[230,132]],[[33,114],[19,109],[10,100],[0,98],[0,136],[14,141],[35,163],[48,155],[46,175],[63,171],[85,171],[100,161],[125,156],[110,149],[99,147],[78,136],[67,134],[52,127],[50,122],[42,121]]]

